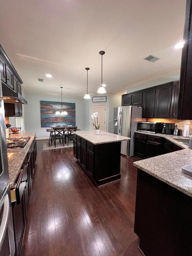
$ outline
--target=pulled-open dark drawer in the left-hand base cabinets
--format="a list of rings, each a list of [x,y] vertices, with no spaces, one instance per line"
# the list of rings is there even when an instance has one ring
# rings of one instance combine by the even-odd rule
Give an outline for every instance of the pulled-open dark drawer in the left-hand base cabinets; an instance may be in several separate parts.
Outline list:
[[[11,187],[11,202],[16,201],[17,204],[21,202],[23,191],[25,189],[26,183],[28,182],[27,168],[28,163],[24,166],[23,169],[19,171],[19,174],[16,178],[17,183],[13,184]]]

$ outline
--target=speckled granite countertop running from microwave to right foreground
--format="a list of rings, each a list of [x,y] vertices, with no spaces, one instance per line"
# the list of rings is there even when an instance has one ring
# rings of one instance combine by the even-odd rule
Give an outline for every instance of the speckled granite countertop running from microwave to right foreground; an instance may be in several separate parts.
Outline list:
[[[184,165],[192,165],[192,150],[188,149],[187,145],[173,139],[177,137],[180,140],[188,140],[188,138],[166,134],[149,134],[140,131],[138,133],[164,137],[183,148],[179,151],[136,161],[134,166],[192,197],[192,177],[181,171]]]

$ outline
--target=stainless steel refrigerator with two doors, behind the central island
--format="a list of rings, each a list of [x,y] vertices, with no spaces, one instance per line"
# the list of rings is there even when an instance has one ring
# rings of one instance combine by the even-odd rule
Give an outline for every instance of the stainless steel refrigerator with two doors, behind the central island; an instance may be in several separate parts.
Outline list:
[[[142,121],[142,107],[114,108],[113,133],[131,138],[131,140],[122,141],[121,154],[128,157],[134,155],[134,131],[137,131],[137,122],[140,121]]]

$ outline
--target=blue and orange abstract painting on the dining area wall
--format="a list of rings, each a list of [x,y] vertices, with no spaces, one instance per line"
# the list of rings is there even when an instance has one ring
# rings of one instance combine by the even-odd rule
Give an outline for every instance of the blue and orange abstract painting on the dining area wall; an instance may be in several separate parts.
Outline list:
[[[50,125],[72,125],[75,126],[75,103],[63,102],[63,109],[67,115],[56,115],[56,111],[61,109],[61,102],[40,101],[41,127]]]

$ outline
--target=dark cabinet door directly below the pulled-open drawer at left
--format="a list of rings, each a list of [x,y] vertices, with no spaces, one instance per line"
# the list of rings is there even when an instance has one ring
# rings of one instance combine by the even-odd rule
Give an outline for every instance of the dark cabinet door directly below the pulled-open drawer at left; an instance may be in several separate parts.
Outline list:
[[[24,194],[21,198],[19,204],[12,203],[12,212],[13,212],[13,229],[15,237],[15,255],[19,255],[22,247],[22,240],[25,231],[26,224],[26,214],[25,214],[25,199]]]

